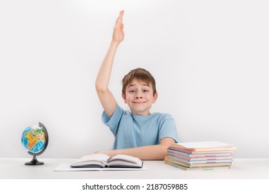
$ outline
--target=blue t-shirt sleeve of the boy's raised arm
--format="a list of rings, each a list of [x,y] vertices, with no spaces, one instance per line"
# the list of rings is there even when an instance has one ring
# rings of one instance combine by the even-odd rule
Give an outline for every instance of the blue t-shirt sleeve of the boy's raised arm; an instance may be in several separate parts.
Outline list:
[[[111,117],[109,117],[108,114],[106,114],[106,112],[103,111],[101,120],[105,125],[107,125],[110,128],[110,130],[114,134],[114,136],[118,132],[119,121],[121,120],[122,114],[123,114],[123,109],[120,108],[119,105],[117,105],[117,108]]]

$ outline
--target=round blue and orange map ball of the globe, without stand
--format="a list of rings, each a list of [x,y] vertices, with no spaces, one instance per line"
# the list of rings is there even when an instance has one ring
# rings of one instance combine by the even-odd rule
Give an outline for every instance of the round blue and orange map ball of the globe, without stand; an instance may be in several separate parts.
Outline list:
[[[46,135],[39,125],[33,125],[23,131],[21,143],[24,148],[32,153],[41,152],[46,144]]]

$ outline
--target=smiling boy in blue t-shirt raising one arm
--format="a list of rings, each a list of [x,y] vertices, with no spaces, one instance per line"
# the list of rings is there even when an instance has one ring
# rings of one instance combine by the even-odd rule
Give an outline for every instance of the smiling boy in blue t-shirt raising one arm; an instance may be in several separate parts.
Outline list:
[[[97,153],[108,156],[128,154],[142,160],[163,160],[168,145],[178,141],[177,129],[169,114],[150,114],[150,107],[157,100],[155,79],[150,72],[137,68],[123,78],[122,98],[130,107],[130,112],[119,107],[108,89],[114,56],[119,43],[124,39],[123,13],[119,13],[110,47],[95,82],[104,110],[102,121],[115,136],[114,150]]]

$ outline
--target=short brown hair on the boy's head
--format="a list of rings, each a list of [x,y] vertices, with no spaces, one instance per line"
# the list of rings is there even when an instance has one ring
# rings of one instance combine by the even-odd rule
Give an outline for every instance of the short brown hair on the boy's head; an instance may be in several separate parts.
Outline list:
[[[153,89],[153,95],[157,92],[156,90],[156,83],[154,77],[148,72],[148,70],[145,70],[143,68],[136,68],[134,70],[131,70],[128,74],[126,74],[121,83],[122,83],[122,93],[126,94],[126,88],[131,83],[132,80],[137,79],[139,81],[145,81],[148,83],[148,85],[152,86]]]

